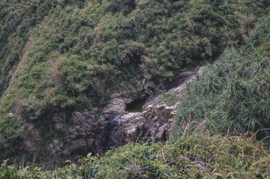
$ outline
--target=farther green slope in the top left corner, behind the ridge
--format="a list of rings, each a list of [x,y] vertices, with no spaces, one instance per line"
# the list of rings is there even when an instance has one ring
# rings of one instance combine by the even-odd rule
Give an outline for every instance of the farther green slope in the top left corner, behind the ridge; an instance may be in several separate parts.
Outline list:
[[[0,96],[23,58],[31,30],[54,9],[83,1],[8,1],[0,3]]]

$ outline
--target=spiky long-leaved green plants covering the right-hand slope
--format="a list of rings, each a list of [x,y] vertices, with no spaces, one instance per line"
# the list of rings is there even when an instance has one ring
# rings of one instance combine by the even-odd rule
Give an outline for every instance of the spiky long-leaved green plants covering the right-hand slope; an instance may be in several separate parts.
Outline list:
[[[270,16],[269,16],[270,17]],[[187,125],[211,132],[257,132],[270,136],[270,18],[240,50],[228,49],[188,86],[175,118],[173,138]],[[191,127],[192,128],[192,127]]]

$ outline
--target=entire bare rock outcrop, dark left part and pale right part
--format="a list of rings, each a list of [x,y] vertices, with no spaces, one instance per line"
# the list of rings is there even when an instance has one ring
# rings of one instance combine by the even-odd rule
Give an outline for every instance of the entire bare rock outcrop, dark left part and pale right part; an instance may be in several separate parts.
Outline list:
[[[194,71],[185,71],[160,92],[154,83],[142,81],[149,97],[141,112],[127,112],[129,100],[121,98],[121,93],[112,95],[114,99],[99,116],[88,110],[73,112],[71,117],[66,117],[65,112],[57,112],[53,117],[53,128],[63,137],[50,138],[43,152],[48,156],[85,155],[90,151],[99,154],[129,142],[145,143],[153,139],[166,142],[177,107],[186,96],[186,85],[194,79]],[[36,144],[41,139],[38,129],[29,123],[23,126],[23,149],[36,151]]]

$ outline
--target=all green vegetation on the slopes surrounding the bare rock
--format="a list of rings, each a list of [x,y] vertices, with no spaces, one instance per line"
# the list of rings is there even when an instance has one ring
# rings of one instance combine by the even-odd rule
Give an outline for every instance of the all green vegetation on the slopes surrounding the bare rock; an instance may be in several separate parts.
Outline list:
[[[58,135],[57,112],[102,107],[118,91],[139,98],[142,79],[166,84],[231,47],[190,83],[171,144],[128,144],[53,172],[5,162],[0,178],[266,178],[257,139],[270,132],[269,4],[1,1],[0,159],[20,155],[22,122]]]

